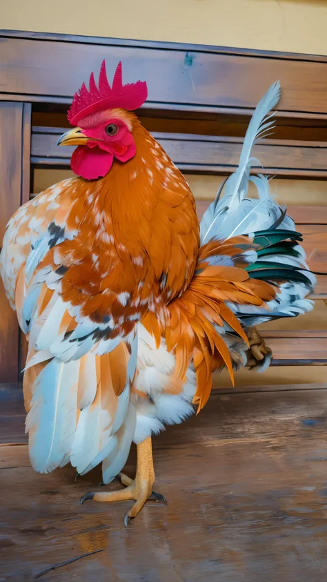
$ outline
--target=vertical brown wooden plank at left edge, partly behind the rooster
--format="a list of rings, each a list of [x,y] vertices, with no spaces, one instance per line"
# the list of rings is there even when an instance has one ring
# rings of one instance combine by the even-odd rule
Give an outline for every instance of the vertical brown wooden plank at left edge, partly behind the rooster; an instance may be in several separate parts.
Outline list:
[[[28,104],[0,104],[0,242],[11,215],[28,200],[31,109]],[[1,244],[0,243],[0,244]],[[0,381],[16,382],[18,374],[17,316],[0,281]]]

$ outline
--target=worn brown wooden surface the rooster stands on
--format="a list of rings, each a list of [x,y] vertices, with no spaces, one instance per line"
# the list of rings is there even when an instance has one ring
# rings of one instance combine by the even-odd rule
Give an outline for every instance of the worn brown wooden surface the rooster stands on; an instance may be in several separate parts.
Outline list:
[[[0,581],[326,582],[327,385],[297,388],[215,394],[155,438],[168,505],[126,529],[130,502],[79,505],[98,470],[33,472],[20,389],[3,387]]]

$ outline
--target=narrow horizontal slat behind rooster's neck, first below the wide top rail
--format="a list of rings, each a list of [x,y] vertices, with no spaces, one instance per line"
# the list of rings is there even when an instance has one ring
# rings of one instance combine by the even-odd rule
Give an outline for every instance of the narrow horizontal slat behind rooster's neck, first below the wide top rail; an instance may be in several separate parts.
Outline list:
[[[57,139],[65,128],[34,127],[32,164],[69,165],[73,147],[59,148]],[[154,133],[154,137],[183,171],[197,173],[230,173],[239,164],[243,139],[188,134]],[[254,166],[275,175],[319,175],[327,177],[327,144],[319,142],[279,141],[263,139],[253,148],[253,155],[264,166]]]

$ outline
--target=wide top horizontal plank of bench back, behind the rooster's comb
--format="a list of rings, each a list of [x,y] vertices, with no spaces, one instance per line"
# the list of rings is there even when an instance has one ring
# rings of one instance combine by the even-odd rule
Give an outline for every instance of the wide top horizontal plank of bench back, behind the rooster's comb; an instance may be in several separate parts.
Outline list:
[[[315,59],[280,59],[262,55],[226,54],[226,49],[184,46],[163,48],[139,46],[138,43],[119,43],[108,39],[106,44],[58,43],[41,38],[11,38],[1,41],[3,61],[3,93],[36,95],[58,99],[72,97],[75,90],[87,81],[90,71],[99,69],[107,59],[108,75],[112,77],[115,64],[124,63],[124,80],[137,77],[148,81],[148,104],[192,110],[217,107],[253,108],[267,87],[281,80],[283,95],[279,110],[305,117],[306,113],[327,113],[327,65]],[[81,58],[83,55],[83,58]],[[6,71],[10,70],[10,75]],[[160,75],[157,75],[157,71]],[[228,73],[227,73],[228,71]],[[219,83],[212,82],[219,79]]]

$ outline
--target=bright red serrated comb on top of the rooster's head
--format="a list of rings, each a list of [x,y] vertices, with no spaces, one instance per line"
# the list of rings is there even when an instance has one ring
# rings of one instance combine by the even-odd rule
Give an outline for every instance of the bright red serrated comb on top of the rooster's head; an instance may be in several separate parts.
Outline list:
[[[99,74],[99,88],[95,84],[95,75],[91,72],[90,90],[88,91],[86,84],[83,83],[79,91],[75,93],[67,115],[68,122],[72,125],[77,125],[82,117],[103,109],[119,107],[132,111],[141,107],[146,101],[146,97],[148,97],[146,81],[123,85],[121,63],[117,65],[112,87],[110,87],[106,63],[103,59]]]

